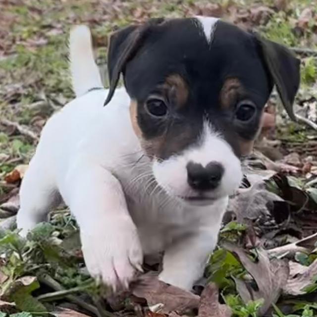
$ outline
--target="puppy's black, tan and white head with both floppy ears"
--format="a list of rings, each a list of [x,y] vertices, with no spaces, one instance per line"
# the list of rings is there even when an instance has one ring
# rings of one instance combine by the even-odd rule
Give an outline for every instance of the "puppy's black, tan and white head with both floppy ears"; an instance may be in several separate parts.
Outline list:
[[[108,103],[123,74],[131,121],[168,194],[211,204],[241,182],[275,84],[288,114],[299,60],[284,47],[219,21],[152,19],[110,38]]]

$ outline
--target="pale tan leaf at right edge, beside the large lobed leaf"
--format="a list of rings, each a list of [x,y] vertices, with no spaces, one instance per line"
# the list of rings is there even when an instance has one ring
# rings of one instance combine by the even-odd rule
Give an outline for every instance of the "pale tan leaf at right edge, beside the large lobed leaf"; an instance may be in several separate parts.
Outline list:
[[[290,262],[290,276],[287,284],[283,287],[283,292],[287,295],[303,295],[303,288],[313,283],[312,279],[317,275],[317,260],[311,265],[304,266],[297,262]]]

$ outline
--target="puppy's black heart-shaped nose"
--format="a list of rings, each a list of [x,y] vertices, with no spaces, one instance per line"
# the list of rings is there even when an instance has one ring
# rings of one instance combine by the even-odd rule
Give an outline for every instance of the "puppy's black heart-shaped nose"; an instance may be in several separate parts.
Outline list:
[[[210,162],[206,167],[200,163],[189,162],[186,167],[189,186],[199,191],[215,189],[224,172],[223,166],[217,162]]]

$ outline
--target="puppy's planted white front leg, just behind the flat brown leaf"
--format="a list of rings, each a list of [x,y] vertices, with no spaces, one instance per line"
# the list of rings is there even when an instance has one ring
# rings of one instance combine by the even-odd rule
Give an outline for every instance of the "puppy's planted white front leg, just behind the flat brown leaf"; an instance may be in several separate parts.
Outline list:
[[[203,231],[183,237],[170,245],[163,258],[159,279],[191,290],[202,277],[208,256],[217,242],[218,232]]]

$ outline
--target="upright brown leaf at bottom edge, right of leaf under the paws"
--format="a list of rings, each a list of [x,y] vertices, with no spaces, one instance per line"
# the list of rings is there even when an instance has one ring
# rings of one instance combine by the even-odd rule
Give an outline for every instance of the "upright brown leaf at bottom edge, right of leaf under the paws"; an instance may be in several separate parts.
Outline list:
[[[230,317],[229,307],[218,301],[218,290],[215,284],[207,285],[201,295],[198,317]]]

